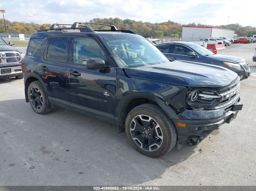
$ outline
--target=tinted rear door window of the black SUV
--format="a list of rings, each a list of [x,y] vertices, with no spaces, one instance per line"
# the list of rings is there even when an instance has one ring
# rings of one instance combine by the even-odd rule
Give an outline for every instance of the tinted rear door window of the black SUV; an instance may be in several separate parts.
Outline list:
[[[52,41],[48,47],[46,59],[57,62],[67,62],[67,44],[68,37],[52,38]]]

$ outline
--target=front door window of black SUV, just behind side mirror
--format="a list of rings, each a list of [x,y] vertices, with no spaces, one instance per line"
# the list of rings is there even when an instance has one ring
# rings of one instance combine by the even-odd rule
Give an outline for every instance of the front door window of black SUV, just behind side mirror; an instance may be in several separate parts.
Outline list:
[[[90,58],[105,60],[105,54],[98,43],[90,38],[74,38],[74,63],[86,65]]]

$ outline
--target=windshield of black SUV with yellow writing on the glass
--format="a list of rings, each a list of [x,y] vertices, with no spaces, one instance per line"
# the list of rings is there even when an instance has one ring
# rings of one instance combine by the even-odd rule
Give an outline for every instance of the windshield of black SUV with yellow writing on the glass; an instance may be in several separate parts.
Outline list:
[[[104,43],[121,68],[170,62],[146,39],[108,39]]]

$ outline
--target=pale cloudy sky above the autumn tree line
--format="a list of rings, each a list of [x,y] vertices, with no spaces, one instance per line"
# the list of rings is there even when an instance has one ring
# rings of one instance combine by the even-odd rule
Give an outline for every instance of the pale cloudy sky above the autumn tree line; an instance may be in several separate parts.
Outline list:
[[[251,0],[0,0],[9,21],[72,24],[93,18],[256,26]],[[0,14],[0,18],[2,14]],[[229,19],[228,19],[229,17]]]

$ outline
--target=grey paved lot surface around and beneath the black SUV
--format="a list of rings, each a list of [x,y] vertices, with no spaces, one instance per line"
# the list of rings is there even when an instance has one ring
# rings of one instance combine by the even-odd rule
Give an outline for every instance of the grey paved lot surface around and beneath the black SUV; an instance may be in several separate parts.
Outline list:
[[[254,47],[219,53],[253,65]],[[23,79],[0,79],[0,185],[256,185],[256,66],[251,71],[234,121],[156,159],[135,151],[116,125],[61,108],[36,114]]]

